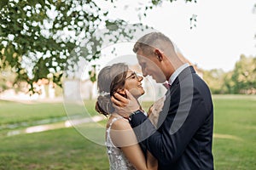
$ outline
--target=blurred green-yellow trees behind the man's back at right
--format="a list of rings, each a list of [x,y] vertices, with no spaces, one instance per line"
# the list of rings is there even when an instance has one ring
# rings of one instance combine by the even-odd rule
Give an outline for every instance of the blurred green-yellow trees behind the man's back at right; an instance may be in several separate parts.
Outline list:
[[[241,55],[233,71],[203,71],[212,94],[256,94],[256,58]]]

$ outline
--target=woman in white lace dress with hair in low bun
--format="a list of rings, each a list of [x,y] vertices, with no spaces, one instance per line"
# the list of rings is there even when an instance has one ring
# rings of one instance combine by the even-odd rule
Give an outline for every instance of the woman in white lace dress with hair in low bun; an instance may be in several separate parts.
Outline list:
[[[147,170],[157,169],[158,161],[147,150],[143,153],[133,132],[129,120],[120,116],[113,108],[111,96],[119,93],[125,96],[128,90],[138,99],[144,94],[143,77],[129,70],[123,63],[104,67],[98,75],[96,111],[108,116],[106,127],[106,145],[110,170]],[[125,96],[127,97],[127,96]]]

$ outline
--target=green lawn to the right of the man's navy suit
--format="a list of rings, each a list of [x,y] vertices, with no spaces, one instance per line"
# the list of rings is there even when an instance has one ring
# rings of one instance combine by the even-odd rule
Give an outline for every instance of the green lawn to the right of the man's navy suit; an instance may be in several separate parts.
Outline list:
[[[213,96],[216,169],[256,169],[256,96]]]

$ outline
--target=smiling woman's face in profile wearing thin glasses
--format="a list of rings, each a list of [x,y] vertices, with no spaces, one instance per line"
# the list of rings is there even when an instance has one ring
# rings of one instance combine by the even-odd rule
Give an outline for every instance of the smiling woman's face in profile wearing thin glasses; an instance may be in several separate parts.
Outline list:
[[[125,78],[125,89],[127,89],[135,98],[139,98],[145,93],[143,89],[143,77],[137,76],[135,71],[127,71]]]

